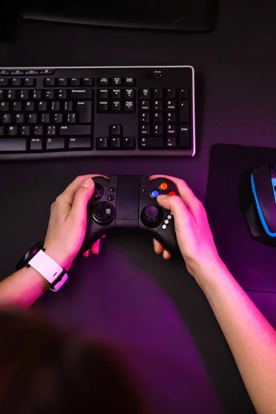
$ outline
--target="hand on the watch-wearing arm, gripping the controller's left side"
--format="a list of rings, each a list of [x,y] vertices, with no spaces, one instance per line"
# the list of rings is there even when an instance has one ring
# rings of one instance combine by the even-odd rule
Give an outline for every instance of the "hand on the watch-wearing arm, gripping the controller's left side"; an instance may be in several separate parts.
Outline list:
[[[44,248],[66,270],[79,253],[86,235],[87,204],[95,190],[93,177],[99,175],[77,177],[51,206]],[[97,240],[83,256],[87,257],[90,252],[97,255],[99,243]]]

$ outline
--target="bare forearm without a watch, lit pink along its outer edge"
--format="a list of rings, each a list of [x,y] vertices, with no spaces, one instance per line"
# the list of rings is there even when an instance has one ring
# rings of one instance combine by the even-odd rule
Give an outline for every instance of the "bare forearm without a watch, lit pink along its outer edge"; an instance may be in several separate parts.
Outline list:
[[[199,271],[213,308],[259,414],[276,413],[276,332],[223,262]]]

